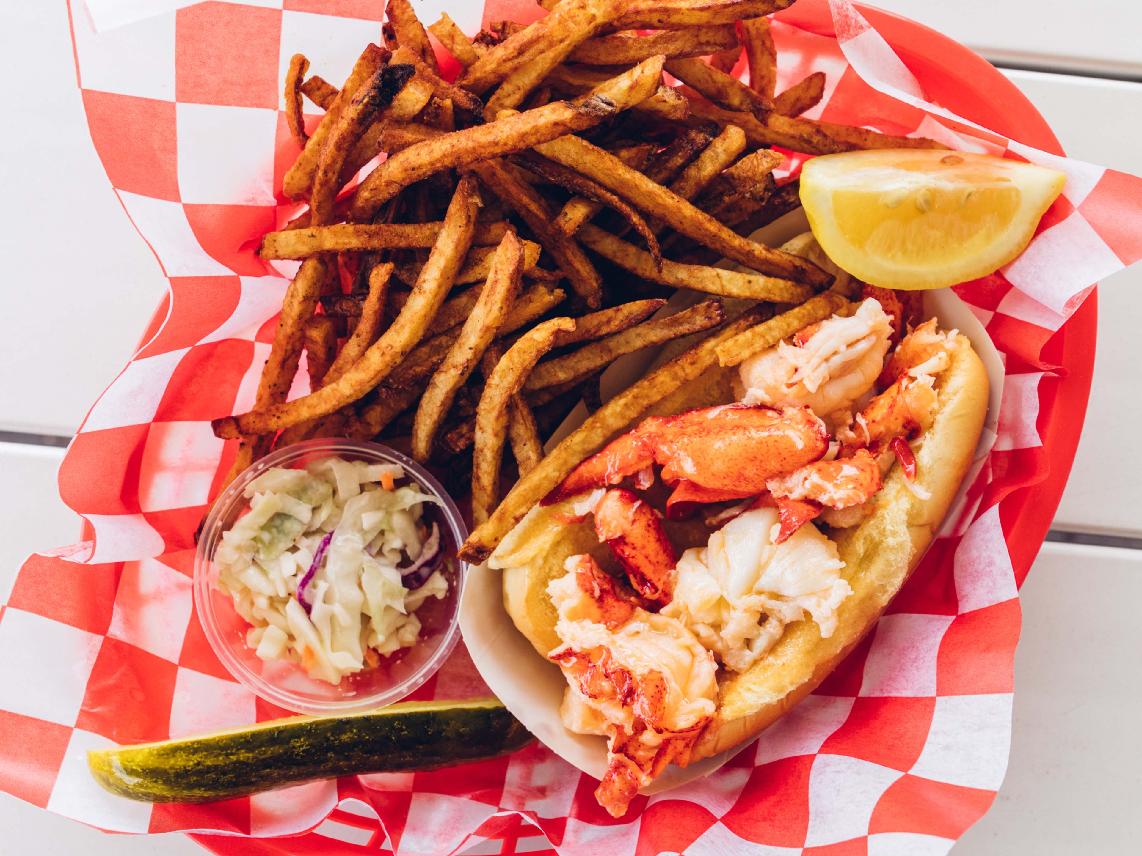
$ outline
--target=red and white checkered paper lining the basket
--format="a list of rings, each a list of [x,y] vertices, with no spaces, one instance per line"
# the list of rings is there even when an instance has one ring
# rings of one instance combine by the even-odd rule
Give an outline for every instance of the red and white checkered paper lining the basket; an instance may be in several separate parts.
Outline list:
[[[287,285],[251,242],[295,210],[278,189],[297,154],[281,100],[289,57],[301,51],[313,73],[343,80],[362,46],[379,41],[383,7],[203,2],[96,34],[72,3],[93,140],[170,290],[61,468],[87,540],[31,557],[0,606],[0,788],[118,832],[316,827],[276,842],[283,853],[946,853],[990,806],[1007,764],[1013,559],[1026,567],[1038,544],[1008,544],[1000,510],[1047,471],[1036,421],[1052,366],[1040,348],[1092,283],[1142,257],[1142,180],[927,103],[847,0],[799,0],[775,18],[780,87],[828,74],[812,118],[1024,158],[1065,170],[1068,184],[1019,259],[957,288],[1006,356],[998,438],[951,534],[825,685],[722,769],[640,797],[621,819],[595,803],[594,781],[542,745],[198,807],[130,802],[90,777],[88,749],[288,714],[210,651],[191,597],[192,533],[235,451],[209,420],[252,405]],[[477,5],[418,2],[426,19],[444,8],[469,33],[542,14],[528,0],[489,0],[482,18]],[[415,697],[485,693],[461,645]]]

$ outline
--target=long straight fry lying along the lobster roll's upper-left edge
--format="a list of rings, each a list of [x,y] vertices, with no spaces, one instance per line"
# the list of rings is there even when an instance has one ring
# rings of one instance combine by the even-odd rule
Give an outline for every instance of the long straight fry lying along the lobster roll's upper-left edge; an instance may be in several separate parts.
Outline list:
[[[515,483],[491,516],[468,535],[459,557],[472,564],[484,562],[532,506],[554,490],[580,461],[626,430],[652,404],[716,365],[717,347],[751,328],[763,313],[762,306],[747,309],[719,331],[646,374],[592,413],[536,469]]]

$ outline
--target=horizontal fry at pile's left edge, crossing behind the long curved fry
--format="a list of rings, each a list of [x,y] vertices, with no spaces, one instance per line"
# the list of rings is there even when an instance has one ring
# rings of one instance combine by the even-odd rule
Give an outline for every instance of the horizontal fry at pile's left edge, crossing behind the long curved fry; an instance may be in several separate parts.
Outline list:
[[[289,232],[270,232],[262,239],[258,255],[264,259],[304,259],[315,252],[363,250],[411,250],[436,243],[443,223],[338,224],[311,226]],[[474,247],[492,247],[504,240],[506,220],[477,223]]]

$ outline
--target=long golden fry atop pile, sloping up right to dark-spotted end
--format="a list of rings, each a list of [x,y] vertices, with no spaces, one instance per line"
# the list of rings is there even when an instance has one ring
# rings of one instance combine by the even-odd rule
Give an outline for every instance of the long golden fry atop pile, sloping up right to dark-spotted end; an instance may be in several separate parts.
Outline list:
[[[646,98],[660,80],[661,59],[648,59],[577,103],[556,102],[409,146],[361,183],[352,196],[349,219],[370,220],[381,203],[433,172],[499,158],[590,128]]]

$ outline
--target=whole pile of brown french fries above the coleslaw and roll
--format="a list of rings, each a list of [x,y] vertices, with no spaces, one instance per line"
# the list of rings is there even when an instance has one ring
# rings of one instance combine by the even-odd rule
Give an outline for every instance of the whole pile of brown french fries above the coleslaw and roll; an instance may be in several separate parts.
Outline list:
[[[828,273],[748,239],[799,205],[797,183],[774,180],[774,147],[941,146],[802,118],[820,72],[775,92],[766,16],[791,2],[542,0],[540,21],[469,40],[448,15],[426,30],[389,0],[385,46],[339,89],[295,56],[286,104],[301,152],[283,191],[308,209],[259,252],[301,265],[254,409],[214,422],[241,438],[226,483],[303,439],[404,444],[463,474],[453,492],[471,471],[477,528],[461,555],[478,562],[654,401],[834,312]],[[455,82],[429,31],[463,67]],[[742,54],[748,84],[730,73]],[[312,132],[305,98],[324,111]],[[713,266],[723,258],[749,272]],[[713,299],[652,317],[676,289]],[[727,321],[718,297],[754,305]],[[697,333],[600,403],[616,358]],[[303,350],[312,391],[287,402]],[[545,457],[580,401],[594,413]],[[518,481],[500,502],[508,445]]]

